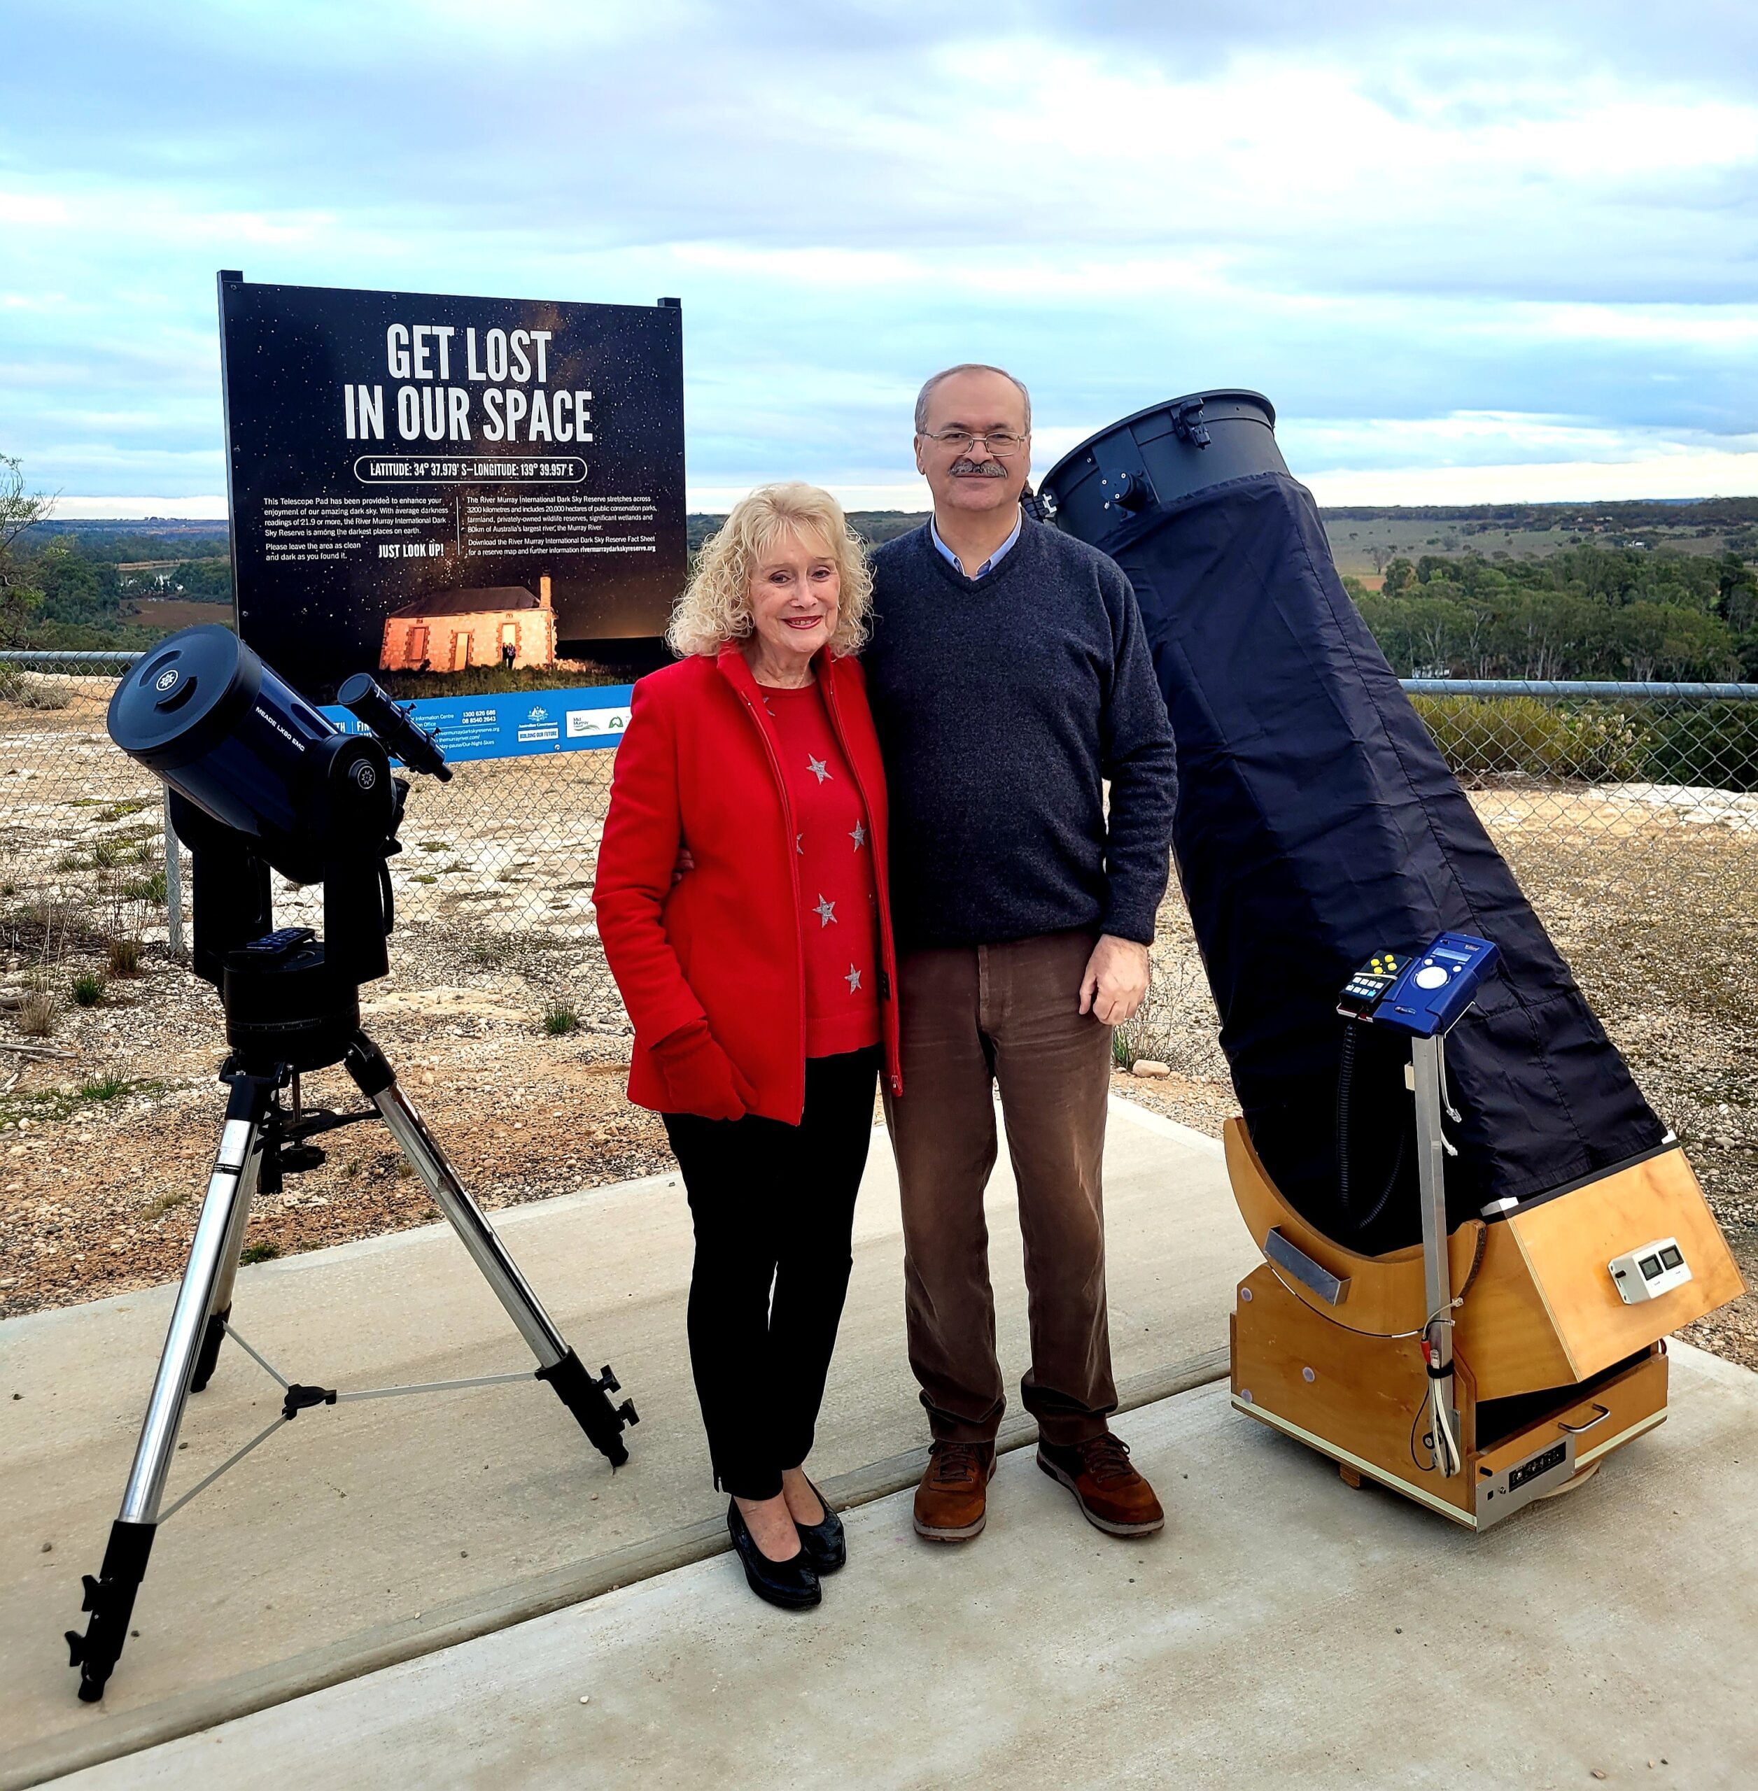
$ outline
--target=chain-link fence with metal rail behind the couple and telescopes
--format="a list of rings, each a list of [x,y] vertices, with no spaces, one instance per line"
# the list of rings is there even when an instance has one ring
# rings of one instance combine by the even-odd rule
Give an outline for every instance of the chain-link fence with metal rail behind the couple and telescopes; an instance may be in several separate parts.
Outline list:
[[[163,790],[104,731],[131,659],[0,656],[0,946],[14,960],[181,946]],[[1733,888],[1745,870],[1758,888],[1758,684],[1405,688],[1548,924],[1597,903],[1643,928],[1674,883],[1720,885],[1729,865]],[[412,779],[391,879],[400,938],[419,930],[428,969],[468,978],[538,956],[568,974],[584,1024],[620,1030],[591,913],[613,763],[599,749]],[[317,892],[276,879],[276,913],[317,924]],[[1206,1010],[1176,888],[1163,922],[1149,1044],[1174,1008]]]

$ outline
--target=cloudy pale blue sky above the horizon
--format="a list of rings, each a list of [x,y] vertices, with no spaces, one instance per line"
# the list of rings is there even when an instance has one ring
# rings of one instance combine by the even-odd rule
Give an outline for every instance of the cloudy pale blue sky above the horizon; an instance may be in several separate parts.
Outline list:
[[[213,270],[685,304],[692,500],[916,507],[1211,385],[1328,501],[1758,493],[1749,0],[56,0],[0,61],[0,453],[219,514]]]

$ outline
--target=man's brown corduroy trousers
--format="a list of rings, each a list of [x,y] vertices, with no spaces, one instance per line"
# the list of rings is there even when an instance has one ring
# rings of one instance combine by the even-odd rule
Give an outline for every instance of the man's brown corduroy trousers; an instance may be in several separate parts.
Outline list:
[[[903,1196],[910,1367],[935,1436],[987,1442],[1007,1404],[982,1195],[1000,1087],[1020,1189],[1032,1365],[1020,1392],[1050,1444],[1116,1408],[1100,1157],[1111,1028],[1081,1014],[1093,933],[916,951],[898,965],[903,1094],[885,1121]]]

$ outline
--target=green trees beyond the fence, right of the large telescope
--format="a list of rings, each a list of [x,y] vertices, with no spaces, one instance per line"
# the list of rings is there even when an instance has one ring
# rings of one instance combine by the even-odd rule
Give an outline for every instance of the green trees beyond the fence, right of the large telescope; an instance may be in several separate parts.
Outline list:
[[[1401,677],[1758,677],[1758,573],[1740,553],[1425,553],[1394,559],[1378,593],[1344,586]]]

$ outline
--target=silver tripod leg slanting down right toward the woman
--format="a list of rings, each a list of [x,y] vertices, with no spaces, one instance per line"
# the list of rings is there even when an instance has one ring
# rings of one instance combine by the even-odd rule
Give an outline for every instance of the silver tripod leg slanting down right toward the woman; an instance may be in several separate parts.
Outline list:
[[[556,1388],[557,1397],[579,1420],[593,1445],[609,1458],[613,1467],[622,1467],[629,1460],[622,1427],[640,1420],[627,1399],[620,1406],[611,1406],[608,1392],[620,1392],[616,1377],[606,1367],[602,1377],[593,1379],[579,1356],[568,1349],[550,1315],[520,1273],[518,1263],[513,1261],[495,1227],[489,1225],[487,1214],[470,1198],[452,1164],[446,1162],[444,1152],[434,1143],[421,1114],[398,1087],[396,1071],[364,1032],[355,1033],[346,1064],[360,1093],[378,1109],[410,1168],[427,1184],[434,1204],[452,1221],[452,1229],[482,1272],[482,1279],[495,1290],[507,1316],[518,1325],[520,1336],[530,1345],[530,1352],[539,1363],[538,1379],[548,1381]]]

